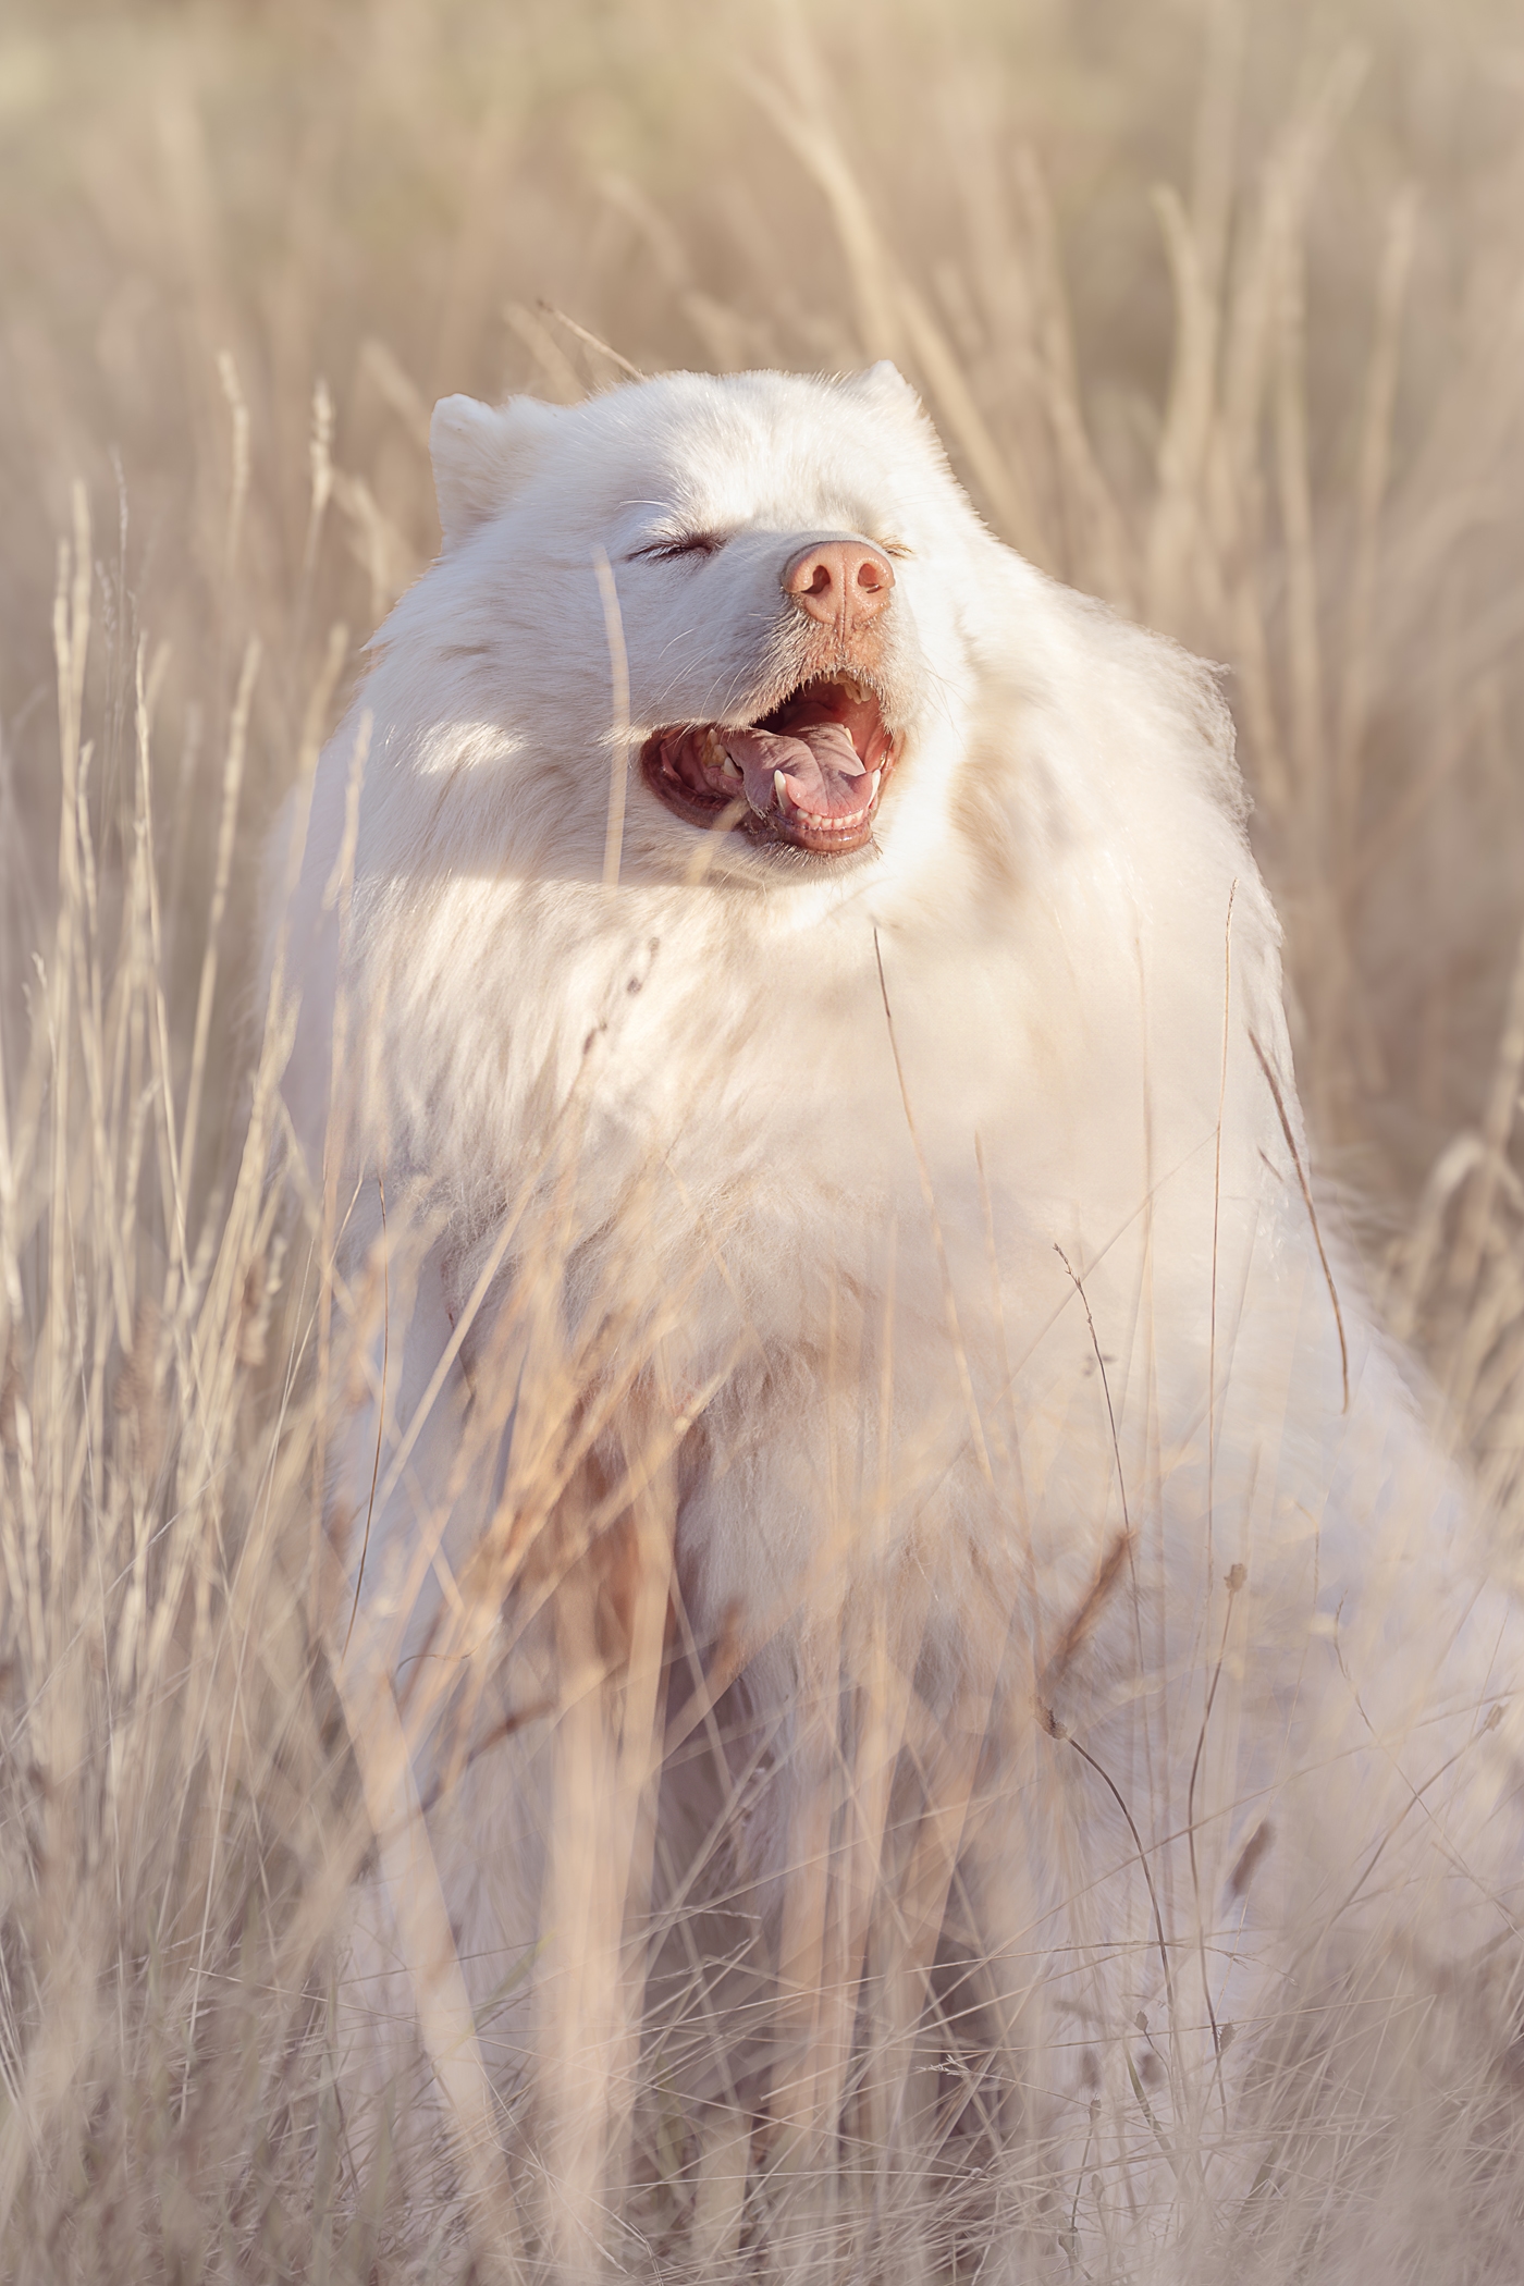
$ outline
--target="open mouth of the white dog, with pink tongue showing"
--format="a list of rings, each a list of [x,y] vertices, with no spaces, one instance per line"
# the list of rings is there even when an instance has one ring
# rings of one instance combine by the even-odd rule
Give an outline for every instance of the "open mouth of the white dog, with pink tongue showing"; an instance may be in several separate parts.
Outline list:
[[[855,674],[816,674],[743,729],[658,729],[640,752],[651,791],[690,825],[717,825],[731,812],[756,839],[823,857],[873,839],[893,761],[877,693]]]

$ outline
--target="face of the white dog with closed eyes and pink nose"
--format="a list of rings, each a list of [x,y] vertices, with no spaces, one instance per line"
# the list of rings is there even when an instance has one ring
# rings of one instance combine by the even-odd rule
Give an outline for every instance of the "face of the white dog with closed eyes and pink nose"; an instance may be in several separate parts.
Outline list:
[[[553,775],[567,844],[601,846],[628,677],[628,860],[873,862],[957,738],[1001,553],[893,368],[672,375],[576,409],[450,398],[434,466],[436,633]],[[523,793],[544,818],[546,789]]]

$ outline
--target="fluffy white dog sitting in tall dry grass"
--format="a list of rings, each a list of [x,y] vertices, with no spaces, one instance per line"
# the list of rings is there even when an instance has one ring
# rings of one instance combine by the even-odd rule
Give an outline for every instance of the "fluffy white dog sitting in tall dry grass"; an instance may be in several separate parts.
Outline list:
[[[1213,679],[889,366],[434,469],[272,919],[425,2035],[564,2261],[1339,2275],[1510,2048],[1515,1618],[1316,1228]]]

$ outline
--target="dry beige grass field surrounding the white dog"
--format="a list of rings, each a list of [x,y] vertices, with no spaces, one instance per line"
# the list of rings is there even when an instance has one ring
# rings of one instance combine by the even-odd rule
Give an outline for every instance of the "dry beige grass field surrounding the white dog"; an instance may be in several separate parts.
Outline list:
[[[1524,1536],[1522,130],[1517,0],[9,0],[5,2279],[404,2275],[331,2044],[354,1298],[251,930],[446,391],[893,357],[1005,539],[1229,670],[1323,1180]],[[619,2268],[697,2277],[647,2112]]]

